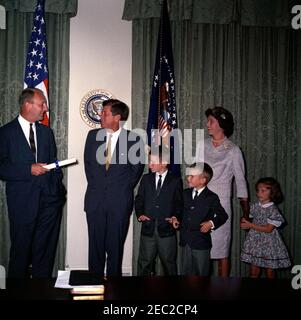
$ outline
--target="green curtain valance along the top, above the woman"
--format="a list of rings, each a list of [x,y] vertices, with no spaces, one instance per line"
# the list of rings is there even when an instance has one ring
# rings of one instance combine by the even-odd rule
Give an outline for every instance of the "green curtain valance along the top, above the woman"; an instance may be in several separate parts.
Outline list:
[[[0,0],[1,1],[1,0]],[[123,19],[159,18],[162,0],[125,0]],[[245,26],[289,26],[298,0],[168,0],[170,20]]]

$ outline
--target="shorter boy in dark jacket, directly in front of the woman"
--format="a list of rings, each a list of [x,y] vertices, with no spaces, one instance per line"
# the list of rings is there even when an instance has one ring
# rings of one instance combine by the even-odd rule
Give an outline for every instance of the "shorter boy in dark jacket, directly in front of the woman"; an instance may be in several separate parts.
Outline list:
[[[180,229],[183,275],[209,274],[212,229],[228,219],[217,194],[206,185],[213,176],[207,163],[195,163],[187,170],[189,189],[184,190],[184,210]],[[173,221],[176,227],[176,222]]]

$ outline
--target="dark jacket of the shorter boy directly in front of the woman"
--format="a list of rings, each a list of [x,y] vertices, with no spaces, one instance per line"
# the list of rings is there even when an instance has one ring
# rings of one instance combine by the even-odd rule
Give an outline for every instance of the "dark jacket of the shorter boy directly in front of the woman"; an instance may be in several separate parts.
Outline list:
[[[212,247],[210,232],[202,233],[200,224],[212,220],[214,229],[219,228],[228,219],[228,215],[216,193],[207,187],[201,194],[192,199],[193,189],[186,189],[183,193],[184,210],[180,229],[180,245],[191,249],[206,250]]]

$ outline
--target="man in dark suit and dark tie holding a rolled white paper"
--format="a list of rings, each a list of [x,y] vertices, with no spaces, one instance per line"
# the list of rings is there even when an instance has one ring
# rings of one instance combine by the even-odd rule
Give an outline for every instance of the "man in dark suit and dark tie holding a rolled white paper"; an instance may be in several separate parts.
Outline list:
[[[39,89],[24,89],[20,114],[0,128],[0,178],[6,181],[10,222],[8,276],[51,277],[61,208],[61,170],[43,166],[56,161],[56,144],[49,127],[40,124],[48,110]]]

